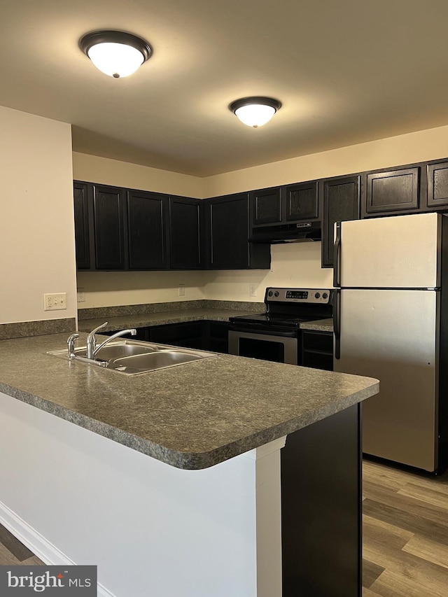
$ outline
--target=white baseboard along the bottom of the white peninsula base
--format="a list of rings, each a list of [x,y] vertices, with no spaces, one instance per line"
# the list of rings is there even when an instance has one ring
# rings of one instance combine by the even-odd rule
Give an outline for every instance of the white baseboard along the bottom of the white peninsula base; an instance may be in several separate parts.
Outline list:
[[[0,502],[0,523],[48,566],[76,566],[76,562],[63,554],[2,502]],[[99,583],[98,596],[116,597]]]

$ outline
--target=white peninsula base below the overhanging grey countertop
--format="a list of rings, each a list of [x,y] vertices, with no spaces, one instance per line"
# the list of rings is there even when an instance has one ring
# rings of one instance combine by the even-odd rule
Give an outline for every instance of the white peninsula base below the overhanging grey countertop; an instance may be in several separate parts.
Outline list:
[[[98,594],[281,597],[285,438],[180,470],[0,393],[0,521]]]

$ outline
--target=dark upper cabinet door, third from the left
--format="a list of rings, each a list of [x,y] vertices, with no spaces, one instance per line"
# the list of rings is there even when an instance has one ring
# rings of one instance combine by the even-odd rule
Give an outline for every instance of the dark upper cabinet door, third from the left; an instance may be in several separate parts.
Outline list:
[[[127,192],[129,269],[166,269],[167,197],[151,192]]]

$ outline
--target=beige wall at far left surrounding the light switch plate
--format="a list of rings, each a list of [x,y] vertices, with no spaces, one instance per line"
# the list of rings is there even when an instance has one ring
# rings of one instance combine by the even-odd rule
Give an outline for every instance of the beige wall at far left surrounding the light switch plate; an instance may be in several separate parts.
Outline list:
[[[70,125],[0,106],[0,131],[0,323],[76,317]]]

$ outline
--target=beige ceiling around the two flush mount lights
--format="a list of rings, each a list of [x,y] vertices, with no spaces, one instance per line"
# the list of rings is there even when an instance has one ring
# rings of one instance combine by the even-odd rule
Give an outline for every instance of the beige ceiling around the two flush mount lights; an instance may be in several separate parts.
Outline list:
[[[2,0],[0,105],[73,125],[73,150],[210,176],[448,124],[448,2]],[[95,29],[153,55],[113,79]],[[228,104],[267,95],[265,127]]]

